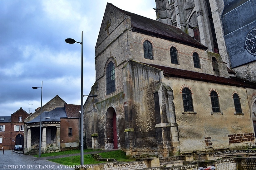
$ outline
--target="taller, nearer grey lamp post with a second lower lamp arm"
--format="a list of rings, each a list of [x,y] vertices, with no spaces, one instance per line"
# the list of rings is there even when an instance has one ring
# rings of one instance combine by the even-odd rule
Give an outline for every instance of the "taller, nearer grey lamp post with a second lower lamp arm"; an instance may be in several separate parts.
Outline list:
[[[80,163],[81,165],[84,164],[84,134],[83,134],[83,97],[84,96],[89,96],[89,97],[97,97],[98,95],[83,95],[83,31],[82,31],[82,41],[77,42],[76,40],[72,38],[67,38],[65,41],[68,44],[74,44],[74,43],[79,43],[82,45],[81,48],[81,118],[80,118],[80,148],[81,148],[81,158],[80,158]]]

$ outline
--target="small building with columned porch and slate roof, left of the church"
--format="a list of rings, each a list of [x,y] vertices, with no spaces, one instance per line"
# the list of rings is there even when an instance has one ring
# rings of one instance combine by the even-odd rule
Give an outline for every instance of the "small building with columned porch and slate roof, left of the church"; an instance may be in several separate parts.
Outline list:
[[[60,151],[61,148],[78,147],[81,105],[66,104],[57,95],[42,106],[42,110],[41,152],[55,152]],[[24,153],[32,153],[39,147],[40,109],[24,122],[26,132]]]

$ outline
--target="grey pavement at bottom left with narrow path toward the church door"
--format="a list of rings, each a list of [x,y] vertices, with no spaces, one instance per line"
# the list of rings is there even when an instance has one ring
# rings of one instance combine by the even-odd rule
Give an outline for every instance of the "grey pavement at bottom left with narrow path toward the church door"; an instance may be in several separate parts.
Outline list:
[[[110,152],[113,150],[99,150],[94,152],[86,152],[84,154],[93,154],[101,152]],[[12,150],[5,150],[4,154],[0,150],[0,170],[31,170],[31,169],[44,169],[44,170],[74,170],[71,166],[65,166],[58,163],[48,161],[46,159],[54,158],[64,158],[70,156],[77,156],[80,153],[59,155],[59,156],[49,156],[36,158],[32,155],[24,155],[22,152],[16,152]]]

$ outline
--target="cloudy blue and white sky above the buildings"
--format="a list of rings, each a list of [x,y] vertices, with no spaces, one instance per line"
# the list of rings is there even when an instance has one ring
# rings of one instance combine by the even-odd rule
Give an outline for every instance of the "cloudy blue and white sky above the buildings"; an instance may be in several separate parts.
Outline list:
[[[95,45],[107,2],[155,19],[154,0],[0,0],[0,116],[34,112],[56,95],[80,104],[83,31],[84,95],[95,82]],[[84,101],[86,98],[84,97]],[[31,105],[29,105],[31,104]]]

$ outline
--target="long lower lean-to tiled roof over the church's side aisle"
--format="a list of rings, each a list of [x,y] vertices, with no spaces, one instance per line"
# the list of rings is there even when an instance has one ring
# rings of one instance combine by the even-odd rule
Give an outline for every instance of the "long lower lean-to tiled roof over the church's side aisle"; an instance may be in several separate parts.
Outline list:
[[[143,63],[146,64],[146,63]],[[170,68],[155,64],[146,64],[154,68],[158,68],[163,71],[164,75],[171,76],[171,77],[180,77],[180,78],[186,78],[186,79],[192,79],[192,80],[199,80],[204,82],[211,82],[211,83],[218,83],[218,84],[225,84],[230,86],[237,86],[237,87],[250,87],[250,88],[256,88],[256,83],[249,82],[240,78],[236,77],[220,77],[220,76],[214,76],[210,74],[204,74],[204,73],[198,73],[188,70],[181,70],[177,68]]]

